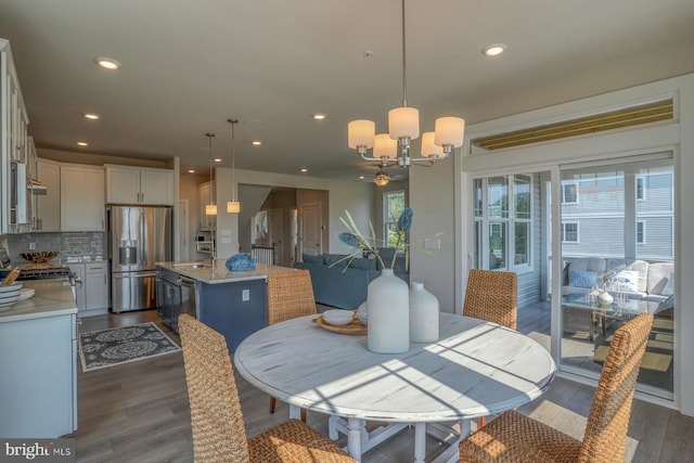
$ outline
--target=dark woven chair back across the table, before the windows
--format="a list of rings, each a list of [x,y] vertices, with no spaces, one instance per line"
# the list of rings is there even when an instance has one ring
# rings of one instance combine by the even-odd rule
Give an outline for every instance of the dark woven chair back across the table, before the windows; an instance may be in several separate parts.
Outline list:
[[[515,330],[517,286],[514,272],[472,269],[463,314]]]

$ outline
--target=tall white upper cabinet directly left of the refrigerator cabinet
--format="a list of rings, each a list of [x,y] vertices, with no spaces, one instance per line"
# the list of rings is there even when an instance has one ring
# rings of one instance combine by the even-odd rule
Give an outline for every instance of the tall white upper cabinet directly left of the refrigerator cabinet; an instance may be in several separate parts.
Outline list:
[[[104,169],[61,166],[61,231],[104,230]]]

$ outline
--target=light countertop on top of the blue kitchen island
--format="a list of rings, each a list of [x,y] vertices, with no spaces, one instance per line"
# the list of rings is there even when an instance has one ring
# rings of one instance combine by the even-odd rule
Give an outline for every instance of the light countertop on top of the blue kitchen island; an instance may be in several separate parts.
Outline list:
[[[267,266],[264,263],[258,263],[255,270],[230,272],[224,266],[224,259],[217,260],[214,268],[210,265],[209,260],[155,262],[155,265],[163,269],[180,273],[183,276],[190,278],[191,280],[196,280],[207,284],[234,283],[260,279],[265,280],[270,273],[296,271],[296,269],[290,267]]]

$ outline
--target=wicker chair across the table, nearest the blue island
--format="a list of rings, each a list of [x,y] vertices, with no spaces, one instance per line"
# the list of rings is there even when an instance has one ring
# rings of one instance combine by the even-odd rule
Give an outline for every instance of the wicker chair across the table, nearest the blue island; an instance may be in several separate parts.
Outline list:
[[[295,270],[268,274],[268,324],[316,313],[316,299],[311,274]],[[274,413],[278,399],[270,397],[270,413]],[[306,410],[301,409],[306,422]]]

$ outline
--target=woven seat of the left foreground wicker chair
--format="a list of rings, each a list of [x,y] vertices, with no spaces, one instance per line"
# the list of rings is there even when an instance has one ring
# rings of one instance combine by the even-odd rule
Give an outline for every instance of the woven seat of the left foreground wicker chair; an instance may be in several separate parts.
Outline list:
[[[354,463],[354,459],[298,420],[288,420],[248,440],[252,462]]]

